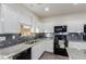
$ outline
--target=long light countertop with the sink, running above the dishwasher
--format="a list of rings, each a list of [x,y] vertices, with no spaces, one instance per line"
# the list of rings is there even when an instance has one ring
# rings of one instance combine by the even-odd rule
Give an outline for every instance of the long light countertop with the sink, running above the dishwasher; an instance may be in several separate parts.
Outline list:
[[[28,49],[28,48],[32,48],[33,46],[39,43],[40,41],[51,40],[51,39],[42,38],[42,39],[36,39],[36,40],[37,40],[37,42],[32,43],[32,44],[26,44],[25,42],[23,42],[23,43],[19,43],[19,44],[9,47],[9,48],[0,49],[0,59],[9,59],[9,57]]]

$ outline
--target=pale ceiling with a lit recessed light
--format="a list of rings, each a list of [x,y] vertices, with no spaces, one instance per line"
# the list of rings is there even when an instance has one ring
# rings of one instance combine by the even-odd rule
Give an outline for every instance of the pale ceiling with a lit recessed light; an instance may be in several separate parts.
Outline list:
[[[86,3],[25,3],[24,5],[39,17],[49,17],[86,11]],[[49,8],[49,11],[45,11],[45,8]]]

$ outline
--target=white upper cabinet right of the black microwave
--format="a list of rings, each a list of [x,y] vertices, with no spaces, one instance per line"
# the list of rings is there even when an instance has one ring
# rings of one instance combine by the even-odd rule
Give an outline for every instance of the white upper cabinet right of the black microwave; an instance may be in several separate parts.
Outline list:
[[[67,22],[67,31],[69,33],[83,33],[84,24],[83,21],[71,21]]]

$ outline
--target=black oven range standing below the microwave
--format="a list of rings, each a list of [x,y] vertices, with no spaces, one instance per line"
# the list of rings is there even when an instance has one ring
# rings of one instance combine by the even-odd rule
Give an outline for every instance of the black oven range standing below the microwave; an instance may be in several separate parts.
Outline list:
[[[64,40],[64,48],[61,48],[60,44],[59,44],[59,40]],[[58,54],[58,55],[63,55],[63,56],[69,56],[67,55],[67,51],[66,51],[66,47],[67,47],[67,40],[66,40],[66,36],[65,35],[56,35],[54,37],[54,54]]]

